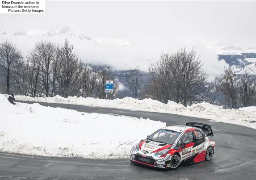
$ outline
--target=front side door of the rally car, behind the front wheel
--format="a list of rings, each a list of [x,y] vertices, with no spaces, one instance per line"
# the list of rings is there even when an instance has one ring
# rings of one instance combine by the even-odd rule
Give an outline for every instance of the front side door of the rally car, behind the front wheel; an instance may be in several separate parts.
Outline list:
[[[181,160],[187,159],[192,155],[193,146],[194,137],[192,131],[184,133],[178,141],[178,147],[181,149],[179,152]]]

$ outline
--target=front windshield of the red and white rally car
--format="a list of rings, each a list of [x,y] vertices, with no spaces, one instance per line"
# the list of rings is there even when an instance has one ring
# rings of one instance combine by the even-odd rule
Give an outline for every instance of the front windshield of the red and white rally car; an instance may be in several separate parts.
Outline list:
[[[151,134],[147,139],[155,142],[173,144],[179,135],[180,133],[176,131],[160,129]]]

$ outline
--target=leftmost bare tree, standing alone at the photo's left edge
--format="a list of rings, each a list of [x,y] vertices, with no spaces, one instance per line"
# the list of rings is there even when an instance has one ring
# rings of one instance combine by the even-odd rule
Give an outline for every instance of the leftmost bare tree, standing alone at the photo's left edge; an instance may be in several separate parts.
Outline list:
[[[0,74],[5,78],[7,94],[10,93],[10,80],[19,59],[21,59],[21,52],[15,45],[7,41],[0,44],[0,66],[4,69]]]

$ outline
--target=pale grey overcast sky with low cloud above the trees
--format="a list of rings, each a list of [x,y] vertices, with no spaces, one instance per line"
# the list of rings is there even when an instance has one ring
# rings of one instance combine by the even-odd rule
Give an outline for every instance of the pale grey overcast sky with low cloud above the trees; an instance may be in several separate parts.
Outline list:
[[[187,44],[215,75],[225,64],[217,63],[213,45],[256,47],[255,9],[256,1],[46,1],[45,14],[0,14],[0,30],[49,31],[60,25],[90,38],[122,39],[129,48],[87,48],[85,58],[118,68],[139,63],[143,70],[162,51]]]

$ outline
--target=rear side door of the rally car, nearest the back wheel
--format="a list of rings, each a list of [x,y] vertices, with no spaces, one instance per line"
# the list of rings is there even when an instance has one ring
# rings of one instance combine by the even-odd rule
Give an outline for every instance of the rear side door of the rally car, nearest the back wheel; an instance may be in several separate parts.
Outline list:
[[[202,130],[195,130],[193,131],[194,134],[194,145],[192,148],[192,155],[196,155],[204,151],[204,146],[206,142],[205,133]]]

